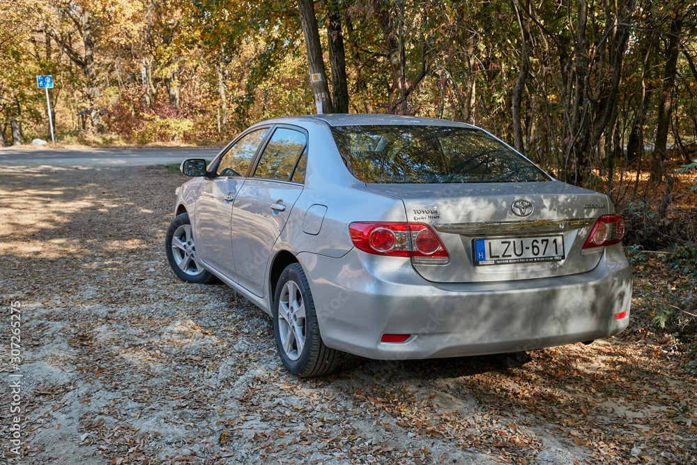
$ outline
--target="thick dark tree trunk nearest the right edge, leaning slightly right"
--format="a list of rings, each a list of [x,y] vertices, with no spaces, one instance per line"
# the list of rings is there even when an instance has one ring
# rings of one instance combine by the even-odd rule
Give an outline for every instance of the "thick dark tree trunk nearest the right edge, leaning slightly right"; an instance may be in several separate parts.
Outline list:
[[[668,144],[668,130],[671,127],[671,114],[673,112],[673,86],[675,86],[675,74],[677,70],[677,56],[680,53],[680,38],[682,36],[682,16],[677,16],[671,21],[671,34],[668,36],[666,47],[666,68],[663,77],[663,89],[658,105],[658,128],[656,130],[656,146],[654,148],[651,164],[651,180],[661,180],[661,165],[666,160],[666,144]]]

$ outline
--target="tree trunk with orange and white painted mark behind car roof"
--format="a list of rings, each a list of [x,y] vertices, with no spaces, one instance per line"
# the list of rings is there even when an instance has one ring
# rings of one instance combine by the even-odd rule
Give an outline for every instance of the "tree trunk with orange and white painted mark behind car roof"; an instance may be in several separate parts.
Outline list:
[[[332,98],[327,83],[327,72],[322,59],[322,43],[319,40],[319,29],[314,15],[312,0],[298,0],[300,10],[300,24],[305,36],[305,48],[307,49],[307,65],[309,68],[312,93],[317,105],[318,113],[333,113]]]

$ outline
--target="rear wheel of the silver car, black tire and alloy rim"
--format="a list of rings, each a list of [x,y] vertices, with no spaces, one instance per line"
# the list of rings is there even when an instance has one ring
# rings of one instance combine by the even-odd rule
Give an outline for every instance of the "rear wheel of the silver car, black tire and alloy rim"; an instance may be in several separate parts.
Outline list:
[[[339,364],[341,353],[322,342],[312,292],[300,264],[287,266],[278,279],[273,334],[283,365],[298,378],[325,376]]]

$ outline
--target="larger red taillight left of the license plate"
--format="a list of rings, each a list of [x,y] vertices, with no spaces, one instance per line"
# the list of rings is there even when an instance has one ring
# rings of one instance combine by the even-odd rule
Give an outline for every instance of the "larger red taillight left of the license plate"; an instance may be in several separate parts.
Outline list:
[[[450,256],[431,227],[423,223],[355,222],[348,225],[353,245],[363,252],[411,257],[416,264],[445,265]]]

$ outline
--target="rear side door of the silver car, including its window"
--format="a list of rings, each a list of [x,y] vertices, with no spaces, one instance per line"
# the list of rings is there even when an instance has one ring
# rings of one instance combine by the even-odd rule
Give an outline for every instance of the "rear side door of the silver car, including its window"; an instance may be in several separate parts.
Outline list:
[[[271,248],[302,192],[306,153],[304,131],[277,126],[235,199],[232,248],[238,282],[260,297]]]

